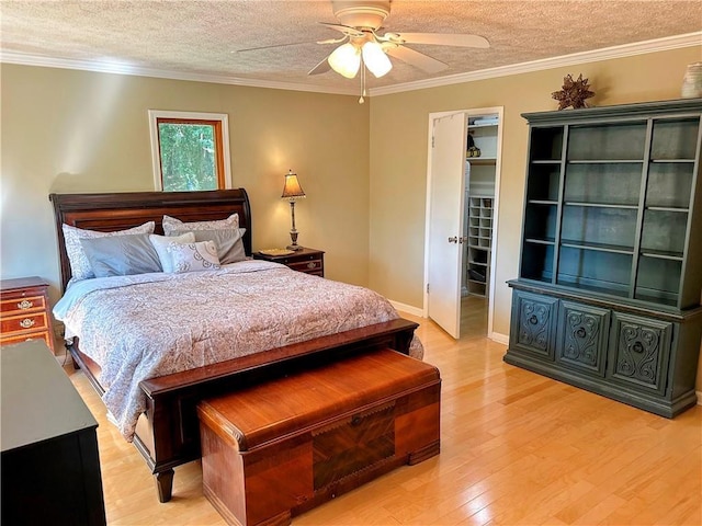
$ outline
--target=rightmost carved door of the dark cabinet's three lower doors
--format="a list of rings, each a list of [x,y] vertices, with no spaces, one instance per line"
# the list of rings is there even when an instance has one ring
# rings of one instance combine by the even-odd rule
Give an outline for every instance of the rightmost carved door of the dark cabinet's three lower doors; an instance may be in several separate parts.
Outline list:
[[[630,387],[665,392],[672,323],[614,312],[609,375]]]

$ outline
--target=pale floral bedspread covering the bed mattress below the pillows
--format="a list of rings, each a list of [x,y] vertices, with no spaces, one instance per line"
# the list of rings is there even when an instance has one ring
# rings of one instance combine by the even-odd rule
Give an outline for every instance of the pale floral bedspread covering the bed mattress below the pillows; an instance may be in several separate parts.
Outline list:
[[[84,279],[54,315],[101,366],[104,404],[127,441],[146,409],[141,380],[398,318],[367,288],[251,260]],[[410,355],[422,354],[415,338]]]

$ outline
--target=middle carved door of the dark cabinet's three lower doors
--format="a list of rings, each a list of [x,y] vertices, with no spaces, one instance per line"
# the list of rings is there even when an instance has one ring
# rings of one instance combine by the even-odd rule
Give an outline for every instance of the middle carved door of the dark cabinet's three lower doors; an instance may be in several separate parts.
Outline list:
[[[609,328],[609,310],[562,301],[556,362],[580,371],[604,376]]]

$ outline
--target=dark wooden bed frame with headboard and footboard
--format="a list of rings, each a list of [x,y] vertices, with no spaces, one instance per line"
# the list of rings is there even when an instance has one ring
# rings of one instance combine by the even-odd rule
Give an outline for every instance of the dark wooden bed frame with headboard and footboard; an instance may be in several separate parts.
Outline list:
[[[237,213],[239,226],[247,229],[244,236],[246,252],[251,254],[251,211],[244,188],[50,194],[49,199],[56,219],[63,289],[71,277],[63,224],[114,231],[155,221],[156,233],[162,233],[163,215],[189,222],[224,219]],[[171,499],[173,468],[201,456],[195,410],[200,400],[367,350],[389,347],[408,354],[417,327],[408,320],[396,319],[141,381],[147,410],[137,424],[134,445],[156,476],[159,500],[168,502]],[[80,351],[78,339],[67,342],[66,346],[76,366],[84,371],[102,396],[104,388],[99,380],[99,365]]]

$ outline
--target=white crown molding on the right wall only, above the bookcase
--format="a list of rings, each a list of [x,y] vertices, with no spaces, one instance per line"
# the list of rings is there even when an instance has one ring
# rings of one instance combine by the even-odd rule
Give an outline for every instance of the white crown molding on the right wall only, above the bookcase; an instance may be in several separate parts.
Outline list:
[[[561,57],[543,58],[540,60],[531,60],[529,62],[500,66],[498,68],[482,69],[479,71],[471,71],[467,73],[457,73],[434,79],[418,80],[416,82],[406,82],[403,84],[372,88],[369,90],[369,94],[371,96],[387,95],[390,93],[423,90],[427,88],[437,88],[441,85],[458,84],[462,82],[507,77],[510,75],[542,71],[544,69],[559,68],[563,66],[596,62],[599,60],[611,60],[614,58],[624,58],[634,55],[644,55],[647,53],[667,52],[681,47],[695,46],[702,46],[702,31],[695,33],[687,33],[683,35],[668,36],[665,38],[657,38],[654,41],[643,41],[635,44],[624,44],[622,46],[612,46],[604,47],[602,49],[593,49],[590,52],[574,53],[571,55],[563,55]]]

